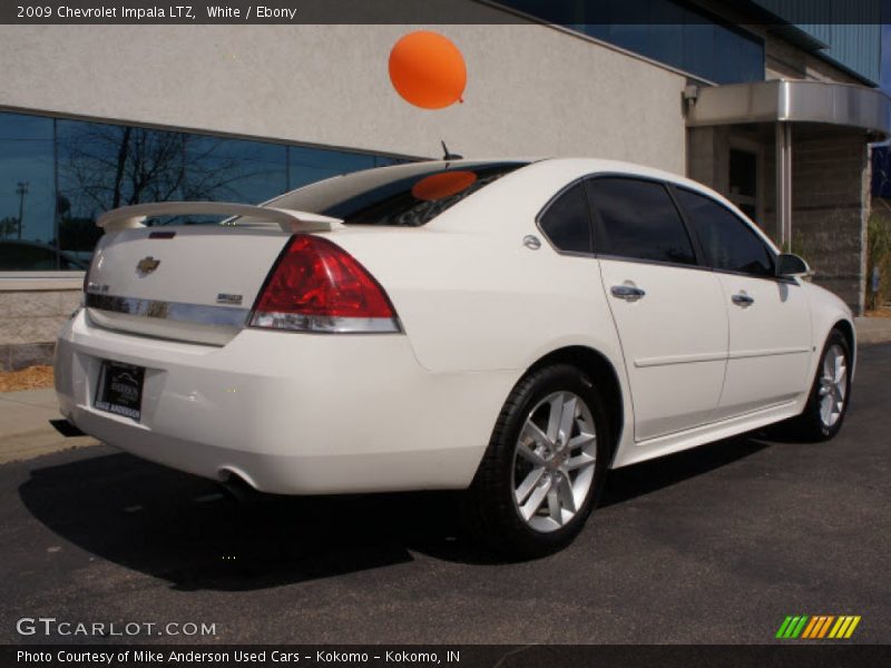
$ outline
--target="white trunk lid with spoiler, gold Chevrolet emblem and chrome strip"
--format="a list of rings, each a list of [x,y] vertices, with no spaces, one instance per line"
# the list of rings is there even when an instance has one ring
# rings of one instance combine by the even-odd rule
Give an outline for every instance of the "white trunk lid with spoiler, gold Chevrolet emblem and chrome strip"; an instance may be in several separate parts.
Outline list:
[[[245,216],[222,225],[145,227],[146,216]],[[138,205],[102,215],[106,229],[87,277],[86,306],[101,327],[209,345],[241,331],[292,233],[339,222],[226,203]]]

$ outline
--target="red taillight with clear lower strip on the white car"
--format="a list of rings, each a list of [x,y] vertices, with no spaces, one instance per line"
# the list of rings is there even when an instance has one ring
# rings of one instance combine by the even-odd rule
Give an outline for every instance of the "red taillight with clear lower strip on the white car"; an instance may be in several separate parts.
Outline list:
[[[400,332],[383,287],[325,238],[294,235],[251,312],[251,326],[298,332]]]

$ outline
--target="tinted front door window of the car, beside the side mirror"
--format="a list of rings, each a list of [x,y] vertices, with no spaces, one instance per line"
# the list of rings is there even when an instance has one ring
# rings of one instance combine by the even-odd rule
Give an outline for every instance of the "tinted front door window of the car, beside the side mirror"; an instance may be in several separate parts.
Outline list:
[[[773,257],[752,228],[709,197],[677,188],[677,198],[716,269],[773,276]]]

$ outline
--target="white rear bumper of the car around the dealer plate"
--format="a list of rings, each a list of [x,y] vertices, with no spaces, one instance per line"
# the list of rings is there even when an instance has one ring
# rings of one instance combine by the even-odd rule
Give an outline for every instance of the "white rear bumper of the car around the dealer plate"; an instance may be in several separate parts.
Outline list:
[[[139,423],[94,407],[102,360],[146,367]],[[62,330],[56,390],[84,432],[182,471],[275,493],[470,484],[513,372],[431,374],[404,335],[245,330],[223,347]]]

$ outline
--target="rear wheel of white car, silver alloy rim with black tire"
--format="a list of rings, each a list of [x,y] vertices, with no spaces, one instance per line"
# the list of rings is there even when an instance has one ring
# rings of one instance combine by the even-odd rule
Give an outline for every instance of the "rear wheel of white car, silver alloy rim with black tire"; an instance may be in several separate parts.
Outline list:
[[[480,538],[512,558],[567,546],[603,488],[608,433],[600,396],[577,369],[555,364],[521,380],[469,490]]]

